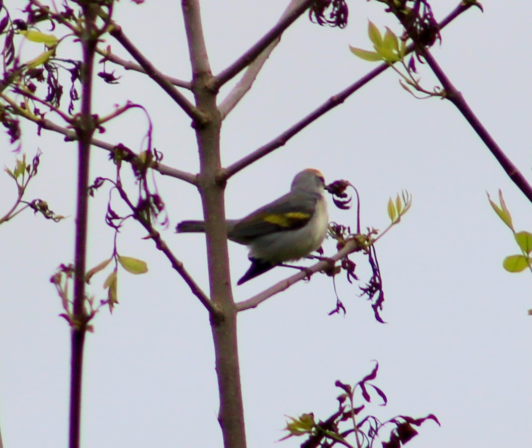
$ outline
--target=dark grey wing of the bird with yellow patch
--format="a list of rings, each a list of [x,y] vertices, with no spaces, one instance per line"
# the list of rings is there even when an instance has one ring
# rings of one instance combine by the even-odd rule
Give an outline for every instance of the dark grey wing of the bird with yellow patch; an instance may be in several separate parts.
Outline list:
[[[237,221],[229,238],[248,240],[274,232],[299,229],[312,218],[319,196],[288,193]]]

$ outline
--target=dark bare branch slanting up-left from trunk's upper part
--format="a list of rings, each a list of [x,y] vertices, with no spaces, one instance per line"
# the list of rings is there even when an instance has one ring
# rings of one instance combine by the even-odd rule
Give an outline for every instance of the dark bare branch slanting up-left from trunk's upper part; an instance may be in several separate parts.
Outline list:
[[[138,48],[129,40],[123,33],[122,28],[113,23],[113,27],[109,32],[111,36],[118,40],[118,42],[127,50],[127,52],[140,64],[146,74],[152,78],[159,86],[166,92],[170,98],[173,99],[185,113],[194,120],[194,122],[202,127],[205,126],[209,119],[205,114],[197,109],[179,90],[174,87],[167,77],[164,76],[155,66],[140,53]]]

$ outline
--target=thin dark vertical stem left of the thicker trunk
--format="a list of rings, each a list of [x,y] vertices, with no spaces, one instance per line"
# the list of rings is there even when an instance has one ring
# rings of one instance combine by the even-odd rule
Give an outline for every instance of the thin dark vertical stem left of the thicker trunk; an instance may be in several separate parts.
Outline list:
[[[74,253],[74,300],[71,329],[70,366],[70,429],[69,447],[79,448],[81,427],[81,378],[83,351],[86,334],[87,312],[85,310],[85,271],[87,255],[88,186],[90,144],[95,123],[92,116],[92,83],[94,55],[97,42],[95,27],[96,5],[82,3],[85,26],[79,39],[83,62],[80,68],[82,82],[81,112],[75,129],[78,135],[78,189],[76,211],[76,242]]]

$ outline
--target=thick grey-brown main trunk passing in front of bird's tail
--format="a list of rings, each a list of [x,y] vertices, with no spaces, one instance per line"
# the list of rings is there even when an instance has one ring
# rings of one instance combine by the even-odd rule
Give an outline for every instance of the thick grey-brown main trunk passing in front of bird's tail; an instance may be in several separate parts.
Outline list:
[[[221,169],[221,117],[216,106],[216,93],[207,87],[212,80],[203,37],[198,0],[182,0],[185,30],[192,64],[192,90],[196,106],[209,117],[203,127],[196,127],[200,153],[200,189],[211,300],[221,310],[221,317],[211,315],[215,366],[218,377],[220,410],[218,421],[225,448],[245,448],[244,405],[240,386],[237,344],[237,310],[232,297],[229,255],[225,226],[225,182],[218,182]]]

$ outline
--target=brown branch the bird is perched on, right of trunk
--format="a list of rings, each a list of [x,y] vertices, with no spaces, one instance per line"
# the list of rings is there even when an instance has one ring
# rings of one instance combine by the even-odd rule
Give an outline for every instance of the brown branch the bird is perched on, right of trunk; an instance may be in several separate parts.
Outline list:
[[[330,257],[330,260],[338,261],[342,260],[344,256],[349,255],[350,253],[356,252],[360,250],[360,245],[356,242],[356,240],[350,239],[346,242],[345,246],[340,249],[336,254]],[[292,286],[294,283],[297,283],[298,281],[301,281],[305,278],[308,278],[310,273],[316,273],[321,270],[330,269],[330,262],[329,260],[322,260],[318,263],[314,264],[310,268],[308,268],[305,271],[301,271],[296,273],[296,275],[293,275],[292,277],[288,277],[285,280],[279,281],[279,283],[276,283],[275,285],[271,286],[270,288],[266,289],[260,294],[257,294],[256,296],[253,296],[249,298],[248,300],[245,300],[244,302],[239,302],[236,304],[236,308],[238,311],[244,311],[249,310],[251,308],[255,308],[260,303],[267,300],[267,298],[270,298],[271,296],[280,293],[281,291],[285,291],[285,289]]]

